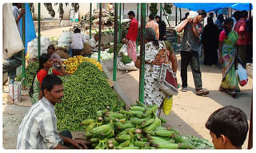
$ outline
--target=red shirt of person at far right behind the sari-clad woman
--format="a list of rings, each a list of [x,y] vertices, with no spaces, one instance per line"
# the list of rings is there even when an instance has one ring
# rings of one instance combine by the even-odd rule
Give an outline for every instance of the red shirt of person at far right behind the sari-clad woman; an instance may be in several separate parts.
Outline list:
[[[234,26],[234,30],[238,33],[237,45],[247,45],[248,33],[246,32],[246,20],[241,18]],[[244,37],[242,38],[242,35]]]

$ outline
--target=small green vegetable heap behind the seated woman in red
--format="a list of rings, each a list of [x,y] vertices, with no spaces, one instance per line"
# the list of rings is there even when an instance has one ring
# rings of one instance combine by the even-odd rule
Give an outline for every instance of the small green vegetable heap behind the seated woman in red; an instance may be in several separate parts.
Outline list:
[[[39,68],[39,62],[34,61],[30,65],[26,67],[26,86],[30,87],[32,85],[34,76],[37,75]],[[19,74],[16,81],[21,81],[22,80],[22,74]]]

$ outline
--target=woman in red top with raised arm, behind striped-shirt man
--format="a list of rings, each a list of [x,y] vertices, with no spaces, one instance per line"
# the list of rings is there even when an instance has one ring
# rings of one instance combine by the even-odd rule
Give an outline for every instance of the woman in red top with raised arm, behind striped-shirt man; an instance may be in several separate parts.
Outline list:
[[[56,62],[58,62],[58,64],[60,65],[61,71],[52,69],[53,64]],[[54,74],[58,76],[66,75],[65,69],[62,66],[62,61],[52,60],[49,54],[43,53],[39,58],[38,73],[36,76],[34,76],[34,81],[30,87],[29,93],[30,93],[32,104],[38,102],[38,100],[42,98],[42,92],[40,88],[41,88],[42,80],[44,77],[46,77],[47,74]]]

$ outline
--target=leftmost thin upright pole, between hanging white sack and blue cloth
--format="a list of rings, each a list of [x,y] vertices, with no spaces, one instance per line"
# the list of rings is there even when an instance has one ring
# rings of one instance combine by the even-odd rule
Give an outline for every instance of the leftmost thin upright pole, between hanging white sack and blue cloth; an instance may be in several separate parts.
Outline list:
[[[22,9],[25,9],[25,5],[26,3],[22,3]],[[29,11],[29,10],[27,10]],[[25,14],[22,16],[22,41],[23,41],[23,45],[25,45],[26,43],[26,39],[25,39]],[[25,51],[26,49],[22,50],[22,78],[26,77],[26,55],[25,55]],[[23,88],[26,87],[26,81],[22,82]]]

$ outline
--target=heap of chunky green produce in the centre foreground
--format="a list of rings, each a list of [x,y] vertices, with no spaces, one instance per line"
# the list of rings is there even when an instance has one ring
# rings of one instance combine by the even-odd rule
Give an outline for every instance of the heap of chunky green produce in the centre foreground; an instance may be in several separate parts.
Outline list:
[[[137,102],[130,110],[102,109],[97,118],[82,121],[86,139],[95,149],[194,149],[212,147],[207,140],[182,136],[174,128],[164,128],[166,120],[155,115],[157,105]],[[196,138],[196,139],[195,139]],[[207,143],[205,143],[207,141]],[[198,143],[203,143],[199,145]]]

